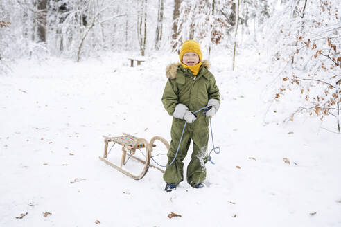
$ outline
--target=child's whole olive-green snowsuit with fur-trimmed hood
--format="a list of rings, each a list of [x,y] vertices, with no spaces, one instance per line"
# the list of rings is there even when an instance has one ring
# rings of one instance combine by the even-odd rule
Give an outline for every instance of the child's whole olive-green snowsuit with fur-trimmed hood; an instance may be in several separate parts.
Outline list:
[[[167,66],[166,74],[168,81],[162,96],[162,103],[168,114],[173,115],[175,106],[179,103],[186,105],[190,111],[195,112],[205,107],[209,99],[213,98],[220,102],[219,89],[216,80],[208,70],[209,63],[202,62],[202,66],[195,80],[189,69],[184,69],[181,64]],[[196,114],[197,119],[186,125],[184,136],[180,145],[179,153],[174,163],[166,167],[164,181],[177,185],[184,180],[184,163],[191,140],[193,140],[193,153],[191,162],[187,167],[187,182],[190,185],[204,182],[206,179],[205,163],[209,160],[207,155],[207,143],[209,140],[209,117]],[[179,145],[185,120],[174,118],[171,129],[171,149],[168,151],[168,165],[173,161]]]

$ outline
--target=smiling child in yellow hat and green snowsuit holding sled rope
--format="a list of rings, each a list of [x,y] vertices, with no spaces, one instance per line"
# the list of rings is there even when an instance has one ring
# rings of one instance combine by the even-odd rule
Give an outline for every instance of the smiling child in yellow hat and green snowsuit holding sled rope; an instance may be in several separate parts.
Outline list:
[[[194,40],[186,40],[180,51],[180,62],[167,66],[166,75],[168,81],[162,96],[162,103],[173,115],[171,129],[171,148],[168,151],[168,165],[173,161],[184,123],[187,122],[180,144],[179,152],[172,165],[166,167],[164,181],[166,192],[175,190],[177,185],[184,180],[184,163],[191,140],[193,140],[193,152],[191,162],[187,167],[187,182],[193,188],[202,188],[206,179],[206,167],[209,157],[207,155],[207,143],[209,140],[209,118],[216,114],[220,106],[219,89],[216,80],[209,72],[209,62],[202,62],[200,45]],[[203,114],[194,111],[212,106]]]

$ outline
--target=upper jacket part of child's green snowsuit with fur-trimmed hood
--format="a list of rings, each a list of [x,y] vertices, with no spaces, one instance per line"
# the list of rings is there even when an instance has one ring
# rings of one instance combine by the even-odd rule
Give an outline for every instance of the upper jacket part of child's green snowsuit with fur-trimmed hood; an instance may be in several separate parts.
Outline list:
[[[162,103],[168,114],[173,115],[175,106],[182,103],[189,108],[190,111],[197,111],[205,107],[209,99],[214,98],[220,102],[219,89],[216,86],[216,79],[208,70],[209,62],[204,60],[202,66],[193,80],[194,75],[189,69],[184,69],[180,63],[170,64],[167,66],[166,75],[168,81],[162,96]],[[200,111],[197,120],[191,125],[209,125],[209,118],[204,118],[204,114]],[[174,119],[178,122],[184,122],[181,119]],[[173,120],[173,122],[174,122]]]

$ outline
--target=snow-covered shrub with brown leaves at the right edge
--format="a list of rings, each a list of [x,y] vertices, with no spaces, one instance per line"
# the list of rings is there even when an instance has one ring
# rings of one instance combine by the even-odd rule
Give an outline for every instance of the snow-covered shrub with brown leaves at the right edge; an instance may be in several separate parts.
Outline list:
[[[272,53],[268,117],[296,114],[339,121],[341,102],[341,19],[338,1],[288,1],[270,20],[267,42]],[[281,112],[281,114],[279,114]],[[329,118],[330,119],[330,118]],[[339,128],[340,131],[340,128]]]

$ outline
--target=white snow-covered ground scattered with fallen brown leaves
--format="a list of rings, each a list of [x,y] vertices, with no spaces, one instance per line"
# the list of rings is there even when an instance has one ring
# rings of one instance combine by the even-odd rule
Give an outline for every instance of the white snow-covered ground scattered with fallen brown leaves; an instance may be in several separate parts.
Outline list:
[[[211,59],[221,153],[204,188],[166,193],[159,170],[135,181],[105,165],[102,135],[171,140],[161,95],[177,56],[134,68],[127,57],[18,60],[1,76],[0,226],[341,226],[340,135],[312,119],[263,121],[272,80],[263,56],[238,56],[236,72],[229,57]]]

